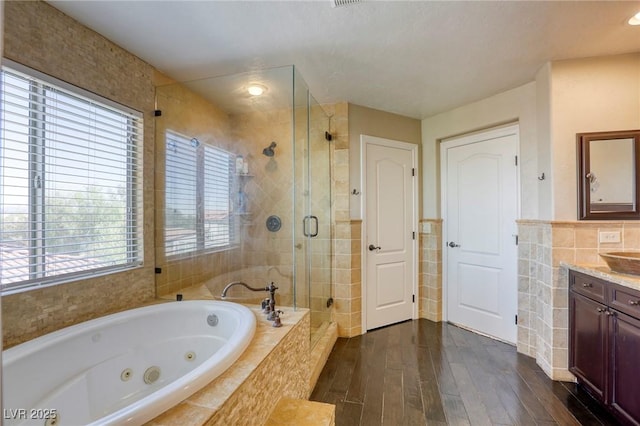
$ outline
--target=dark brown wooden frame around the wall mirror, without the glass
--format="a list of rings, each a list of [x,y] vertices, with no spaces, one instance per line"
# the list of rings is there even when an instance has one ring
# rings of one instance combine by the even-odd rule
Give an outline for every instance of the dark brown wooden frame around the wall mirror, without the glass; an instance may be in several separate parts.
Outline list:
[[[629,210],[592,211],[587,175],[591,171],[589,142],[607,139],[633,139],[634,205]],[[640,130],[577,133],[578,218],[579,220],[640,220]]]

